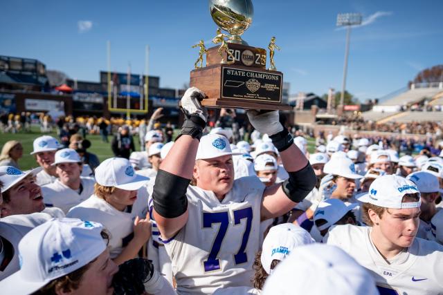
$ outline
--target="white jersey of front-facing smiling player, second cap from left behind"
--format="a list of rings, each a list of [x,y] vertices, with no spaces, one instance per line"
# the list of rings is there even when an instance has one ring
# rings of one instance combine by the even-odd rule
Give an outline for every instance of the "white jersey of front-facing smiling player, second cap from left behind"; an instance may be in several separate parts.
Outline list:
[[[62,184],[58,179],[51,184],[46,184],[42,187],[44,204],[47,207],[60,208],[64,213],[68,213],[69,209],[87,200],[94,193],[96,180],[83,176],[80,176],[80,180],[82,183],[82,192],[80,194]]]

